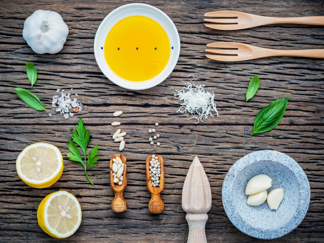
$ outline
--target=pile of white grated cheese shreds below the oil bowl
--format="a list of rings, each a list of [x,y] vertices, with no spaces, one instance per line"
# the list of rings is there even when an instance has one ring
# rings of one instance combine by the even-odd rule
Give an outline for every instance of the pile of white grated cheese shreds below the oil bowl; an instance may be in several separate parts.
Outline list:
[[[194,85],[190,82],[187,82],[184,85],[186,86],[180,91],[176,90],[178,94],[174,94],[175,98],[183,101],[181,104],[176,102],[178,105],[181,105],[179,110],[176,112],[185,113],[187,117],[189,116],[187,113],[190,113],[192,117],[188,120],[193,118],[196,119],[197,122],[194,122],[195,124],[206,120],[208,115],[213,117],[213,119],[214,115],[219,117],[214,103],[214,93],[211,94],[208,91],[205,91],[204,85]],[[214,114],[212,111],[214,111]]]

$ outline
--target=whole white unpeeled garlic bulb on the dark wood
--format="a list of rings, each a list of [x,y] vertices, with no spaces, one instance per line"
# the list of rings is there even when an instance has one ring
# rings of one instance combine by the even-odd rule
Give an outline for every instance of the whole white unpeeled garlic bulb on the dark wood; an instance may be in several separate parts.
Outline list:
[[[22,31],[27,44],[38,54],[61,51],[68,34],[61,15],[49,10],[36,10],[25,20]]]

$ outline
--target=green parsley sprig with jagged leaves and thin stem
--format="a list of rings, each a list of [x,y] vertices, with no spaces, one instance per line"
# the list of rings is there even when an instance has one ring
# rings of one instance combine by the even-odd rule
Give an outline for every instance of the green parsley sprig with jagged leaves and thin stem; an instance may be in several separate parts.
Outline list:
[[[96,166],[95,163],[98,162],[98,156],[96,156],[98,154],[98,144],[88,152],[88,161],[87,161],[86,150],[89,143],[89,139],[90,139],[89,129],[86,130],[86,127],[83,125],[83,121],[80,117],[78,124],[76,124],[76,132],[72,129],[72,140],[69,139],[69,146],[67,147],[72,152],[72,154],[67,153],[66,156],[70,160],[78,161],[83,165],[84,171],[86,173],[86,177],[88,181],[91,183],[91,185],[93,185],[92,181],[89,179],[87,175],[87,167],[88,166],[95,167]],[[79,148],[76,147],[75,144],[80,146],[84,155],[84,161],[82,160],[82,157],[80,155]]]

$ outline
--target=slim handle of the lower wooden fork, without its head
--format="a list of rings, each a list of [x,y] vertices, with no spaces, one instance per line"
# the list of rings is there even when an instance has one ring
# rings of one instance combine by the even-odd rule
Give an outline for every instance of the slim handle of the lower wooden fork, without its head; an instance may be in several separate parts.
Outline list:
[[[275,50],[267,49],[265,57],[269,56],[298,56],[298,57],[313,57],[324,58],[324,49],[306,49],[306,50]],[[268,53],[268,54],[267,54]]]

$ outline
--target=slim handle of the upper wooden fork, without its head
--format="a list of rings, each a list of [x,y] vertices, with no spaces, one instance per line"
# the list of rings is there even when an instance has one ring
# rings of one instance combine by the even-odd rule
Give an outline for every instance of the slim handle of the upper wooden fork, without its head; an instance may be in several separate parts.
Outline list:
[[[266,18],[269,21],[267,24],[308,24],[308,25],[324,25],[324,16],[266,17]]]

